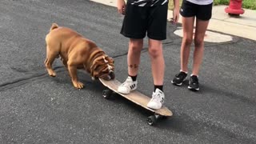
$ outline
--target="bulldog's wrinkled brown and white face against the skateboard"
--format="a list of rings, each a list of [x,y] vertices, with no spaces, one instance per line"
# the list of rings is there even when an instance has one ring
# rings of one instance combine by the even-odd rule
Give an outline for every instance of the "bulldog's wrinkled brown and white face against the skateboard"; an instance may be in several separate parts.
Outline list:
[[[96,58],[90,68],[92,78],[114,79],[114,59],[107,55]]]

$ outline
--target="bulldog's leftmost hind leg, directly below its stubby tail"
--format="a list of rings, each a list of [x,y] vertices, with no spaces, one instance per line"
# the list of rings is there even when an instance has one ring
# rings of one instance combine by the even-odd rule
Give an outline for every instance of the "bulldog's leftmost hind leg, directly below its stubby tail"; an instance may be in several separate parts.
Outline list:
[[[54,50],[50,50],[50,46],[47,46],[45,66],[46,66],[46,70],[48,71],[48,74],[52,77],[56,76],[56,73],[52,68],[52,64],[55,58],[58,58],[58,52],[55,52]]]

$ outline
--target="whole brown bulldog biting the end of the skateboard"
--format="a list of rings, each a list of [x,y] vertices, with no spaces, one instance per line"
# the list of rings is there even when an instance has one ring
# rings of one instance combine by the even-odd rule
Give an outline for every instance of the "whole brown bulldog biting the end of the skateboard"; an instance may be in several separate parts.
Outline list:
[[[59,56],[77,89],[83,88],[82,82],[78,81],[77,69],[86,70],[93,79],[114,79],[113,58],[108,57],[94,42],[83,38],[81,34],[53,23],[46,35],[45,61],[46,70],[52,77],[56,76],[52,63]]]

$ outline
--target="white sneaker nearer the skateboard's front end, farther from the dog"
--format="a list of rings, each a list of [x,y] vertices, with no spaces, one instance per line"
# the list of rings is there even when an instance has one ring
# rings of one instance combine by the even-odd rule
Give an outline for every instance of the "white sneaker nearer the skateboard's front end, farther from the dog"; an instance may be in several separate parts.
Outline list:
[[[147,104],[147,107],[158,110],[162,107],[162,104],[164,102],[165,94],[163,94],[162,90],[155,90],[152,94],[152,98],[150,99],[150,102]]]

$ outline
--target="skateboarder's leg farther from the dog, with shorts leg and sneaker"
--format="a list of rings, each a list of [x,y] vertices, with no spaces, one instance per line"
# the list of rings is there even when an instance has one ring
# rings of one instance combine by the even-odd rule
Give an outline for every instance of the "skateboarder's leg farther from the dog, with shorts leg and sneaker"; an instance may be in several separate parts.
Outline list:
[[[154,92],[147,104],[151,109],[160,109],[164,102],[163,78],[165,62],[162,54],[162,40],[166,39],[166,18],[168,6],[152,6],[148,21],[149,54],[154,79]]]

